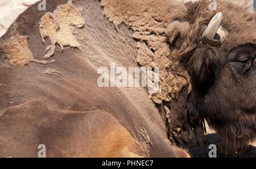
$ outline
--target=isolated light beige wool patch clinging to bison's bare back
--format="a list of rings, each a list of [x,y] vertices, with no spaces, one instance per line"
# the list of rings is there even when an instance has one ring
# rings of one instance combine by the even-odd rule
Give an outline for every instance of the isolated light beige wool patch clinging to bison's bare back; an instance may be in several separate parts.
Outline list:
[[[61,49],[64,46],[79,48],[80,44],[73,35],[74,27],[80,28],[85,22],[82,18],[82,10],[73,6],[71,0],[65,5],[60,5],[53,12],[47,12],[39,23],[40,34],[43,43],[45,38],[49,37],[51,45],[46,48],[44,58],[51,57],[55,52],[55,44],[59,44]]]

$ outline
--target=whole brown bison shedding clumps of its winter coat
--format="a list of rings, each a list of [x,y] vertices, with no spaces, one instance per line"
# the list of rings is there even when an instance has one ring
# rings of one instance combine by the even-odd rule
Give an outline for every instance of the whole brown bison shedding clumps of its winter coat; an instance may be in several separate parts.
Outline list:
[[[256,137],[255,27],[223,0],[36,3],[0,40],[0,156],[189,157],[176,145],[201,142],[204,120],[240,149]],[[159,67],[158,92],[97,86],[110,62]]]

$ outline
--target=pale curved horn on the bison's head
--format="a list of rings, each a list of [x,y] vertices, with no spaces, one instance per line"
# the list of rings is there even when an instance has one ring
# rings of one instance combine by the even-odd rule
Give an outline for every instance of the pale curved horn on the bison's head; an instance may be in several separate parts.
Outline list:
[[[212,45],[213,47],[219,47],[225,39],[226,32],[221,26],[222,13],[218,12],[205,29],[202,35],[202,41],[205,44]]]

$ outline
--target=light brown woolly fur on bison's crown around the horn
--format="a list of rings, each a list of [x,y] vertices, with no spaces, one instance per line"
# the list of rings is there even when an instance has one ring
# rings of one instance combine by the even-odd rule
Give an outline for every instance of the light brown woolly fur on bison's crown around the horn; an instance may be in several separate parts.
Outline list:
[[[218,1],[217,11],[210,11],[208,5],[209,3],[204,1],[188,2],[187,15],[177,18],[179,21],[170,23],[166,34],[170,43],[174,43],[172,55],[186,57],[193,49],[203,48],[205,45],[200,43],[201,35],[217,12],[222,12],[222,27],[229,33],[221,45],[221,50],[227,54],[240,45],[255,44],[256,35],[251,31],[255,28],[255,13],[250,12],[247,6],[237,5],[232,1]],[[172,31],[176,33],[171,33]]]

